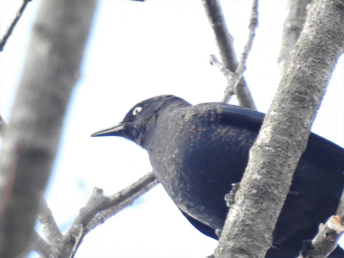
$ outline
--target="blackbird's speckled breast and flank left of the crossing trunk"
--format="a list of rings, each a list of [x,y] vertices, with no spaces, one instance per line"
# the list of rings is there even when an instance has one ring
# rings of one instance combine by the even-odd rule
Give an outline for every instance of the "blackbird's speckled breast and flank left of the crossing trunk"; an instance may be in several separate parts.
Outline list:
[[[242,128],[180,116],[158,123],[148,153],[153,170],[185,213],[222,228],[228,212],[224,196],[239,182],[255,135]]]

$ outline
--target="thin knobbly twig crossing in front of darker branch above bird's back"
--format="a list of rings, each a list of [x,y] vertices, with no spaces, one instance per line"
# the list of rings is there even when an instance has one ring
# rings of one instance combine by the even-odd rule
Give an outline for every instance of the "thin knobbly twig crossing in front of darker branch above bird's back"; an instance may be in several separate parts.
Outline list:
[[[255,1],[253,1],[253,4],[252,4],[250,24],[248,26],[248,29],[249,29],[248,39],[247,39],[247,42],[245,44],[244,51],[241,54],[240,62],[239,62],[238,67],[235,71],[235,75],[233,76],[233,78],[231,80],[228,81],[228,86],[225,89],[224,97],[221,100],[222,102],[228,102],[228,100],[231,96],[231,93],[233,91],[235,92],[235,89],[236,89],[241,77],[243,77],[243,73],[246,70],[247,57],[248,57],[248,54],[252,48],[252,43],[253,43],[253,39],[254,39],[255,31],[256,31],[257,27],[258,27],[258,0],[255,0]]]

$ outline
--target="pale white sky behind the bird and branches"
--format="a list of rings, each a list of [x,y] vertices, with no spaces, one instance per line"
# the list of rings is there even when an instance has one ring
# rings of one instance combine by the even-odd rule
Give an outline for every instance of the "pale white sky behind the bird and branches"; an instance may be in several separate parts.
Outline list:
[[[0,54],[0,111],[8,122],[40,1],[28,4]],[[240,56],[252,1],[221,2]],[[0,36],[21,1],[0,0]],[[259,111],[267,112],[280,75],[277,57],[287,1],[259,2],[259,28],[244,76]],[[120,122],[141,100],[174,94],[192,104],[219,101],[223,75],[200,1],[100,1],[82,76],[74,89],[46,198],[63,233],[92,194],[110,195],[151,171],[146,151],[119,137],[91,138]],[[338,61],[312,131],[344,147],[344,60]],[[232,104],[236,104],[232,101]],[[344,242],[344,241],[342,241]],[[76,257],[205,257],[217,241],[196,230],[161,185],[90,232]],[[343,243],[344,244],[344,243]],[[37,254],[32,254],[37,257]]]

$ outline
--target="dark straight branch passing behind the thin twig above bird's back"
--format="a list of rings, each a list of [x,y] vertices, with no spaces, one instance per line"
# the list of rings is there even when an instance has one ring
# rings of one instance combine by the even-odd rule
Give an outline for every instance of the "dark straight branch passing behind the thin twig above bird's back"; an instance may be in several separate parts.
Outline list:
[[[202,3],[209,23],[214,30],[222,62],[227,69],[235,72],[238,61],[233,48],[233,37],[229,34],[221,4],[218,0],[202,0]],[[257,109],[244,78],[241,78],[235,88],[235,95],[241,106]]]

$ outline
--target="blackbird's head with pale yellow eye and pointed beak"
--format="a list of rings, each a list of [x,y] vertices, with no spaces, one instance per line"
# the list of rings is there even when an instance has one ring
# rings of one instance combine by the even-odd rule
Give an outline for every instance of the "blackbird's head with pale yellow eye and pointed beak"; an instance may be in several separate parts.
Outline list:
[[[154,130],[160,111],[176,102],[187,103],[173,95],[160,95],[143,100],[133,106],[118,125],[95,132],[91,137],[121,136],[146,149],[145,140],[149,132]]]

